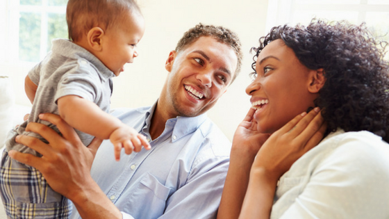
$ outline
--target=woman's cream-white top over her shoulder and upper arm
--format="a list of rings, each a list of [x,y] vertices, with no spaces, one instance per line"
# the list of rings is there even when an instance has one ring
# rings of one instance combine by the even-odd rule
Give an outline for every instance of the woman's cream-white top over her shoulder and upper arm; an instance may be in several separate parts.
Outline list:
[[[281,218],[387,218],[388,145],[381,146],[342,140]]]

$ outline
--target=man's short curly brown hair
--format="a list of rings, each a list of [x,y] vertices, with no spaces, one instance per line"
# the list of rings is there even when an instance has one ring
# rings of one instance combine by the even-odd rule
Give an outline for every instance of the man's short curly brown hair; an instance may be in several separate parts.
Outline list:
[[[242,67],[242,44],[240,43],[238,35],[223,26],[204,25],[200,23],[183,34],[183,37],[177,43],[175,50],[177,52],[180,52],[183,49],[186,49],[186,47],[190,46],[190,44],[192,44],[202,36],[213,37],[218,42],[222,42],[224,44],[229,45],[233,49],[233,51],[235,51],[235,55],[238,57],[238,65],[236,66],[235,74],[231,81],[232,83],[235,80],[236,76],[238,76],[240,68]],[[220,54],[220,56],[222,55],[223,54]]]

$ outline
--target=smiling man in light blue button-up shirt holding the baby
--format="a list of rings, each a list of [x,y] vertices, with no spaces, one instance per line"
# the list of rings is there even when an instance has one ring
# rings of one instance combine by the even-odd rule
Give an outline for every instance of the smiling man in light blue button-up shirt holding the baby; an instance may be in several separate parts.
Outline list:
[[[40,133],[49,145],[28,136],[17,142],[42,157],[10,156],[40,170],[54,190],[72,200],[78,211],[72,218],[215,218],[231,143],[204,113],[226,92],[241,60],[235,33],[199,24],[170,52],[156,104],[113,113],[147,136],[150,150],[116,162],[106,141],[94,159],[99,140],[84,147],[63,120],[44,114],[64,138],[31,123],[28,131]]]

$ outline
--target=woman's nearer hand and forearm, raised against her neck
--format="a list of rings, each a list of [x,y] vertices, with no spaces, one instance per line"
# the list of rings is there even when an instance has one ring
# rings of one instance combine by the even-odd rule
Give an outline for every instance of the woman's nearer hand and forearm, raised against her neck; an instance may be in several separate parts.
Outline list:
[[[251,166],[249,185],[239,218],[270,218],[276,182],[324,136],[320,109],[297,115],[274,132],[259,149]]]

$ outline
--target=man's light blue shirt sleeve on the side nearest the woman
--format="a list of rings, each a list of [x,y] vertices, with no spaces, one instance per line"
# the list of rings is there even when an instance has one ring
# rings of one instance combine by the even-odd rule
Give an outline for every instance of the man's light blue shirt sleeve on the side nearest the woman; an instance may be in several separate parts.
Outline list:
[[[185,186],[169,197],[160,218],[216,218],[228,167],[228,157],[199,163]]]

